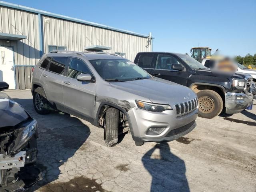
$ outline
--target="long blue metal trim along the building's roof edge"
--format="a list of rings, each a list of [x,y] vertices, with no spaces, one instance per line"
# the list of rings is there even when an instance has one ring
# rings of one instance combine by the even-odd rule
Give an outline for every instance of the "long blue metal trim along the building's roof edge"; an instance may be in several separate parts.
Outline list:
[[[74,21],[74,22],[78,22],[78,23],[82,23],[82,24],[87,24],[87,25],[96,26],[96,27],[100,27],[100,28],[104,28],[104,29],[108,29],[108,30],[113,30],[113,31],[118,31],[118,32],[126,33],[126,34],[131,34],[131,35],[148,38],[148,35],[132,32],[132,31],[128,31],[128,30],[118,29],[118,28],[114,28],[111,26],[102,25],[102,24],[98,24],[98,23],[94,23],[94,22],[90,22],[90,21],[86,21],[86,20],[82,20],[82,19],[77,19],[77,18],[73,18],[73,17],[68,17],[68,16],[64,16],[64,15],[60,15],[60,14],[55,14],[55,13],[51,13],[51,12],[47,12],[47,11],[43,11],[43,10],[38,10],[38,9],[34,9],[34,8],[30,8],[30,7],[26,7],[26,6],[22,6],[22,5],[18,5],[18,4],[0,1],[0,6],[6,6],[6,7],[14,8],[14,9],[20,9],[20,10],[29,11],[29,12],[33,12],[33,13],[37,13],[37,14],[42,14],[42,15],[46,15],[46,16],[50,16],[50,17],[60,18],[60,19],[64,19],[64,20],[70,20],[70,21]]]

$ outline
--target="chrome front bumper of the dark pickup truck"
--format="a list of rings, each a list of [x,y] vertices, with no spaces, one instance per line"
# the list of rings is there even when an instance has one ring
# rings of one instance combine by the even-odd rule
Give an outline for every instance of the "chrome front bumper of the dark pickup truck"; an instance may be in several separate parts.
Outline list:
[[[225,93],[225,107],[226,113],[234,114],[239,113],[248,106],[250,106],[253,102],[252,93],[244,94],[244,93]]]

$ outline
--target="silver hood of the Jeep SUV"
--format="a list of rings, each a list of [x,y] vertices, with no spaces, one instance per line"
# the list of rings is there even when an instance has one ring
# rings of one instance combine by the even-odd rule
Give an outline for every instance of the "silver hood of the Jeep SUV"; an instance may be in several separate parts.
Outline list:
[[[112,82],[110,85],[118,90],[148,98],[153,103],[169,104],[171,106],[196,97],[196,94],[190,88],[160,78]]]

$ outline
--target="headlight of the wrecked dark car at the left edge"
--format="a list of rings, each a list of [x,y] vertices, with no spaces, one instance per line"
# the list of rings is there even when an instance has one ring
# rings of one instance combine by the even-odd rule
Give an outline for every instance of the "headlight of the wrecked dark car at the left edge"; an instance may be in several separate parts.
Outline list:
[[[26,127],[19,132],[16,140],[15,145],[13,147],[13,152],[18,151],[32,136],[35,134],[37,129],[37,122],[36,120],[33,120],[30,122]]]

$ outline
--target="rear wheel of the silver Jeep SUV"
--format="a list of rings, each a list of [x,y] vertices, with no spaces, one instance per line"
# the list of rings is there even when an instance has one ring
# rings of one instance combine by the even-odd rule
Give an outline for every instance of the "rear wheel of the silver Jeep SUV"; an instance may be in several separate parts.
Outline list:
[[[45,97],[44,89],[41,87],[36,88],[33,93],[33,104],[36,112],[41,115],[49,114],[51,112],[51,107]]]

